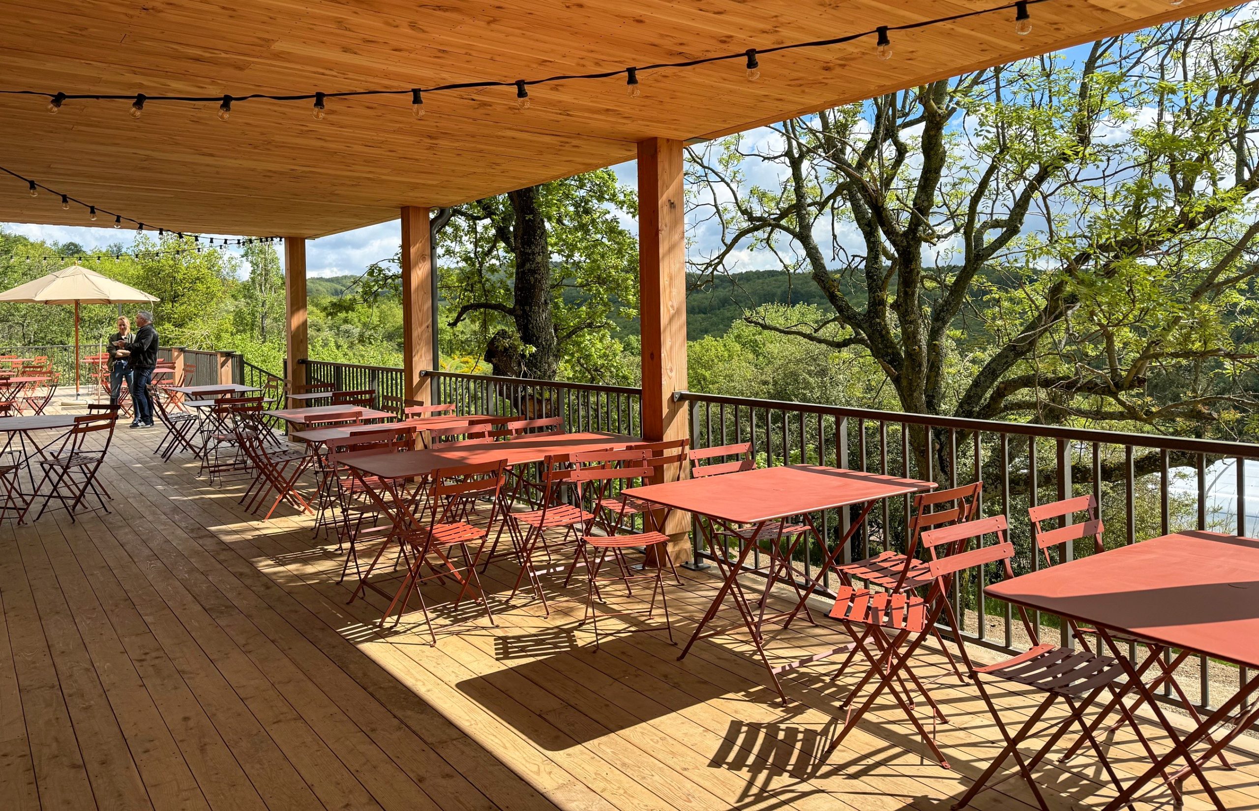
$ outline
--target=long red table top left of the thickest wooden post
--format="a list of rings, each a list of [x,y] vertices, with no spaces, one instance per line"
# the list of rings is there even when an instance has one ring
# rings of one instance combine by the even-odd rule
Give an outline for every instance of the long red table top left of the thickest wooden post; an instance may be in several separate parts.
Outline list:
[[[507,465],[543,461],[556,454],[575,454],[584,450],[624,448],[641,443],[635,436],[583,431],[578,434],[545,434],[535,438],[510,439],[500,443],[473,443],[453,448],[403,450],[397,454],[374,454],[346,461],[360,473],[381,479],[424,477],[433,470],[506,460]]]

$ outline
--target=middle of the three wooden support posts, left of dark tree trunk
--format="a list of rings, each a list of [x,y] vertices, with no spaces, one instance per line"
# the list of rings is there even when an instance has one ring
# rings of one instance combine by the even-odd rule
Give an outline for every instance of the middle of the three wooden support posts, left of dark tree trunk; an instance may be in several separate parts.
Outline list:
[[[429,241],[428,209],[402,209],[403,396],[432,402],[421,372],[437,368],[437,275]]]

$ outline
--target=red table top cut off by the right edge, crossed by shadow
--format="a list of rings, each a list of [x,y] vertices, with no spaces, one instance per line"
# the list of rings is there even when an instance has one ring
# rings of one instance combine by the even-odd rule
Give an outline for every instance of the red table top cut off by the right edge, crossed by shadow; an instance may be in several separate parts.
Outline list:
[[[1177,532],[1030,572],[986,593],[1259,668],[1259,539]]]

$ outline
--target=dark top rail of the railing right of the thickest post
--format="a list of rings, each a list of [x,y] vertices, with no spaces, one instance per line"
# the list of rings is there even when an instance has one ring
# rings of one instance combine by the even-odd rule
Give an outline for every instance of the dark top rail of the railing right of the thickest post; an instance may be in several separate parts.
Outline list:
[[[1188,436],[1166,436],[1162,434],[1131,434],[1126,431],[1107,431],[1092,428],[1037,425],[1035,422],[972,420],[957,416],[913,414],[909,411],[879,411],[875,409],[828,406],[813,402],[792,402],[789,400],[757,400],[753,397],[706,395],[697,391],[675,391],[674,400],[703,401],[718,405],[743,406],[753,409],[802,411],[805,414],[821,414],[823,416],[865,419],[871,421],[885,421],[885,422],[904,422],[908,425],[925,425],[929,428],[951,428],[963,431],[987,431],[990,434],[1012,434],[1019,436],[1066,439],[1083,443],[1133,445],[1137,448],[1158,448],[1166,450],[1181,450],[1194,454],[1211,454],[1219,456],[1244,456],[1249,459],[1259,459],[1259,444],[1235,443],[1229,440],[1195,439]]]

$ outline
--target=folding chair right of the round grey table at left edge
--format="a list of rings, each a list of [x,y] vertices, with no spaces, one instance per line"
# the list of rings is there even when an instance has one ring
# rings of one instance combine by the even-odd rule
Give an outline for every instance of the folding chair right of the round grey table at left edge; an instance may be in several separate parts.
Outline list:
[[[44,503],[39,508],[35,521],[48,510],[48,505],[57,502],[71,516],[71,523],[76,521],[76,512],[83,502],[92,495],[99,503],[99,509],[110,512],[104,500],[110,492],[96,480],[104,455],[110,450],[110,441],[113,439],[113,428],[118,421],[117,409],[111,409],[104,414],[87,414],[74,417],[74,426],[65,435],[62,445],[53,453],[39,459],[39,465],[44,474],[35,485],[35,493],[43,492]],[[92,443],[101,441],[99,448],[93,448]],[[97,508],[92,508],[97,509]]]

